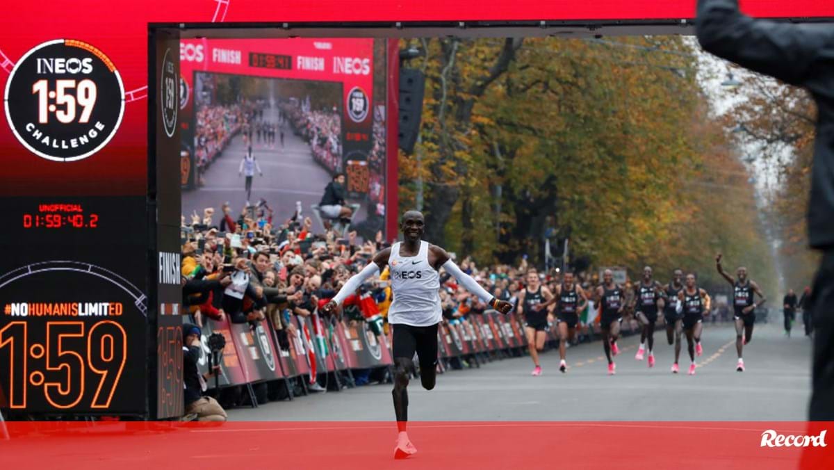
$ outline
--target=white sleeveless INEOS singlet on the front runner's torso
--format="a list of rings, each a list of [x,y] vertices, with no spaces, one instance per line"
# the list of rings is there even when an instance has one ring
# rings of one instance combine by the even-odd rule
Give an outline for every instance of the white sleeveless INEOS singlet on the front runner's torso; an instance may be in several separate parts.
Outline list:
[[[440,308],[440,275],[429,264],[429,242],[420,241],[416,256],[400,256],[401,242],[394,243],[388,259],[391,293],[388,310],[392,325],[431,326],[443,317]]]

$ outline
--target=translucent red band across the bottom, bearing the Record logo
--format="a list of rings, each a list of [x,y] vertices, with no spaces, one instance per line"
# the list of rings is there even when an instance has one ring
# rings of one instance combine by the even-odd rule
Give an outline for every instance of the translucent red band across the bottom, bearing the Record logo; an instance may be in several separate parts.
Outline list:
[[[394,461],[393,422],[8,422],[2,468],[818,469],[834,422],[410,422],[418,452]],[[812,428],[811,428],[812,427]],[[762,433],[826,447],[761,447]],[[2,434],[0,434],[2,436]]]

